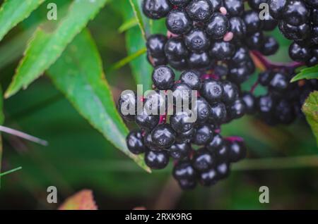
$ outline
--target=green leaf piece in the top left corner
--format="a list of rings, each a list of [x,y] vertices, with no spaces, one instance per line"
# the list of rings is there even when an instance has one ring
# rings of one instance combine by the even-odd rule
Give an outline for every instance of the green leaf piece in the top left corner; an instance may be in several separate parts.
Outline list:
[[[45,0],[6,0],[0,8],[0,41]]]

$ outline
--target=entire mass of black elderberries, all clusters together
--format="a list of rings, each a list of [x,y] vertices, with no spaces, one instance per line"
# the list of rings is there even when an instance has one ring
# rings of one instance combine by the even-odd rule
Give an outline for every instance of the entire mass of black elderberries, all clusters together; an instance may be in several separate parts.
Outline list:
[[[262,3],[270,7],[264,20]],[[134,92],[122,94],[119,112],[133,106],[129,111],[135,113],[122,117],[140,127],[127,136],[129,151],[145,154],[147,166],[153,169],[163,169],[173,159],[173,176],[182,189],[193,189],[198,182],[215,184],[228,176],[231,163],[246,156],[243,140],[223,138],[221,125],[245,114],[259,114],[271,125],[291,123],[302,116],[302,103],[318,87],[316,80],[290,84],[294,70],[274,66],[259,75],[266,95],[242,92],[240,84],[255,70],[251,54],[270,56],[278,50],[276,39],[264,35],[278,24],[295,41],[291,58],[318,63],[317,0],[249,0],[248,4],[249,10],[243,0],[142,1],[143,13],[155,20],[165,18],[168,32],[151,35],[146,43],[148,61],[155,67],[154,92],[141,99]],[[179,80],[168,64],[183,71]],[[169,91],[172,105],[167,104]],[[196,101],[191,101],[192,91],[197,92]],[[189,122],[189,111],[177,110],[178,97],[191,102],[195,122]],[[143,106],[137,113],[140,102]],[[169,108],[173,113],[168,113]]]

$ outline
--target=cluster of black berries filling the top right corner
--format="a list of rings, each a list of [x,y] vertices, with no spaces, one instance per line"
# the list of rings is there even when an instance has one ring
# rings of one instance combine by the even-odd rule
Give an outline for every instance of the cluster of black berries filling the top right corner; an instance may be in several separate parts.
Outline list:
[[[273,18],[279,20],[279,29],[287,39],[293,40],[289,55],[294,61],[308,66],[318,63],[318,1],[269,0]]]

